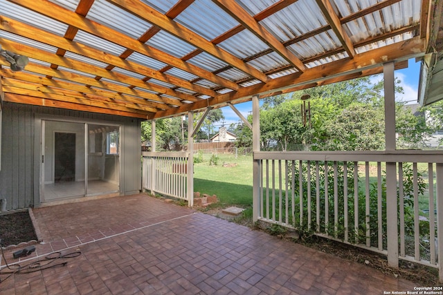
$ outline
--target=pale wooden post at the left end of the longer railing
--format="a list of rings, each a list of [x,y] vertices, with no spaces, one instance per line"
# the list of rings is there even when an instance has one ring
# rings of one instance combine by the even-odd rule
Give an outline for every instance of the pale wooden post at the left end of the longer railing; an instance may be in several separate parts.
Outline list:
[[[258,95],[252,97],[252,150],[260,151],[260,104]],[[253,222],[260,212],[260,160],[253,160]]]

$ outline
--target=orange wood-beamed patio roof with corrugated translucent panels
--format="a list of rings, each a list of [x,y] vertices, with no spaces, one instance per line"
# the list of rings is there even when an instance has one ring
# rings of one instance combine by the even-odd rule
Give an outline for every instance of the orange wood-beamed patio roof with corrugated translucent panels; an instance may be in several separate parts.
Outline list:
[[[442,49],[442,1],[0,6],[2,49],[29,58],[23,71],[0,59],[3,101],[147,120],[402,68]]]

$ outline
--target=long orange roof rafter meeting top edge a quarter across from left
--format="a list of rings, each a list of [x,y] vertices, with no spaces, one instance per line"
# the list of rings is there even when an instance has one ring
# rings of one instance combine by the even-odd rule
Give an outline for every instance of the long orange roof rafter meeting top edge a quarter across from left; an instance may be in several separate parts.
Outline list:
[[[266,75],[260,72],[260,70],[257,70],[257,68],[249,66],[238,57],[235,57],[234,55],[228,53],[226,50],[219,48],[218,46],[215,46],[210,41],[206,40],[204,37],[201,37],[192,30],[186,28],[185,26],[182,26],[180,23],[177,23],[176,21],[173,21],[169,17],[162,15],[154,8],[150,8],[149,6],[140,1],[134,1],[134,0],[108,0],[108,1],[114,3],[114,5],[122,8],[123,10],[126,10],[127,12],[130,12],[136,15],[137,17],[144,19],[145,21],[148,21],[156,26],[159,26],[159,28],[162,28],[162,30],[169,32],[175,37],[182,39],[183,41],[186,41],[189,44],[196,46],[197,48],[201,48],[201,50],[204,50],[206,53],[209,53],[210,55],[213,55],[214,57],[217,57],[218,59],[225,61],[227,64],[230,64],[231,66],[234,66],[239,70],[242,70],[244,73],[247,73],[248,75],[257,78],[262,82],[266,82],[268,80],[268,77],[266,77]]]

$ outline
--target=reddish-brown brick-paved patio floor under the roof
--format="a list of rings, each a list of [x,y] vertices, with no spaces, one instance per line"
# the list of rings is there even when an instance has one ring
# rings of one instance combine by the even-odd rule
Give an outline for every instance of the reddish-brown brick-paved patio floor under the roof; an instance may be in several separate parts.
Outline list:
[[[41,244],[81,251],[66,267],[1,276],[4,294],[383,294],[402,278],[139,194],[33,209]],[[17,262],[12,251],[9,263]],[[1,260],[4,266],[4,260]]]

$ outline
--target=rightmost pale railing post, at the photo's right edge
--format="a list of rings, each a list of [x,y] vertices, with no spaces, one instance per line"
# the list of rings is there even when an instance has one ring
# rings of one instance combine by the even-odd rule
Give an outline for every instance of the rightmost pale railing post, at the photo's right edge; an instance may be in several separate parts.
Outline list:
[[[435,179],[437,182],[437,258],[438,258],[438,281],[443,283],[443,164],[437,163],[435,167]],[[429,212],[431,215],[432,212]],[[431,241],[432,242],[432,241]]]

